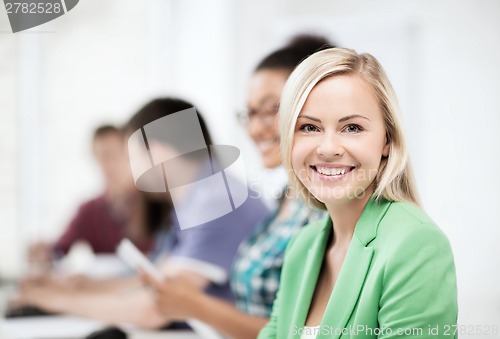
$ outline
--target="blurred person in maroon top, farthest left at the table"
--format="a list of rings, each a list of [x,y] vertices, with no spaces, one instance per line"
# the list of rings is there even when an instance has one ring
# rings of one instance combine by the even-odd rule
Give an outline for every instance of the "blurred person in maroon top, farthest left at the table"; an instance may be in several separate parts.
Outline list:
[[[124,237],[143,252],[153,241],[141,225],[141,201],[134,187],[123,132],[115,126],[98,127],[92,152],[104,181],[104,191],[83,203],[55,243],[40,242],[29,249],[33,262],[49,263],[68,253],[73,244],[84,241],[94,253],[114,253]]]

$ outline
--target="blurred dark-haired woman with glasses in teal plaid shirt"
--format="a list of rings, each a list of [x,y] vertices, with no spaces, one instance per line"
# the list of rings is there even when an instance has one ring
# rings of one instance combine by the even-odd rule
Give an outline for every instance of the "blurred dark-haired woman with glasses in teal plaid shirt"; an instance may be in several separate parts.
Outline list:
[[[288,76],[303,59],[328,46],[322,37],[298,36],[257,65],[247,110],[240,119],[266,168],[281,165],[276,116]],[[197,318],[231,338],[255,338],[271,316],[288,242],[305,224],[322,216],[304,205],[296,192],[288,187],[283,190],[278,208],[239,248],[231,271],[235,305],[194,290],[180,279],[163,283],[147,275],[144,279],[156,288],[158,307],[165,315],[178,320]]]

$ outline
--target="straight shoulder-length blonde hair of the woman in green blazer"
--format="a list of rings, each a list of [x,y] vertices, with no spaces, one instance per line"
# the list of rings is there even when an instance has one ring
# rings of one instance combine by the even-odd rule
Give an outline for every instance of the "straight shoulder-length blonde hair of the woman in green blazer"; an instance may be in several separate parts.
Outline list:
[[[330,48],[305,59],[292,72],[285,84],[279,109],[281,154],[292,190],[299,192],[304,201],[321,209],[325,205],[317,200],[300,182],[292,168],[291,153],[295,124],[309,93],[321,80],[337,75],[356,74],[371,85],[380,104],[390,151],[381,160],[375,178],[376,199],[408,201],[418,205],[418,194],[413,178],[408,150],[399,118],[396,94],[380,63],[370,54],[357,54],[345,48]]]

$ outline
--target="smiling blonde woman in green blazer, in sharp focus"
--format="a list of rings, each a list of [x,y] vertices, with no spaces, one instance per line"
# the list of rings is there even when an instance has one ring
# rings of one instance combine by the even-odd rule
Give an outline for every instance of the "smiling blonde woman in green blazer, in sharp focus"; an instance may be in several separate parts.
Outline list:
[[[450,244],[418,207],[398,104],[369,54],[327,49],[290,75],[281,99],[291,186],[329,216],[285,256],[259,338],[452,338]]]

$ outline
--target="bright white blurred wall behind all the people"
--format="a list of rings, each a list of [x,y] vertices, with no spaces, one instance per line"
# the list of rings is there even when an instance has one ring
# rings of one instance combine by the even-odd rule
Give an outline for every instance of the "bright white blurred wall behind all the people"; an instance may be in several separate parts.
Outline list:
[[[27,245],[57,237],[102,186],[94,127],[122,124],[157,96],[194,102],[270,200],[283,175],[262,174],[235,114],[256,62],[296,33],[384,65],[424,208],[454,249],[459,323],[500,325],[496,0],[81,0],[16,34],[1,8],[0,277],[21,275]]]

